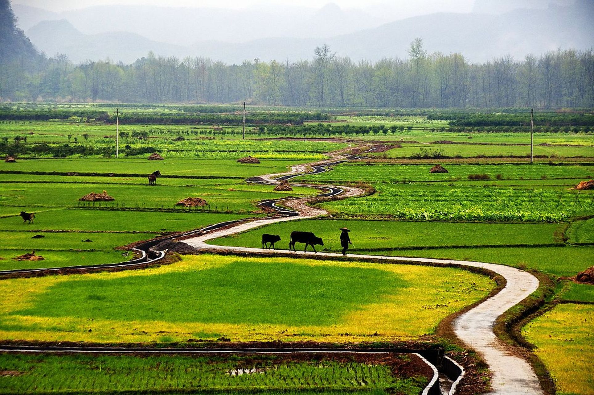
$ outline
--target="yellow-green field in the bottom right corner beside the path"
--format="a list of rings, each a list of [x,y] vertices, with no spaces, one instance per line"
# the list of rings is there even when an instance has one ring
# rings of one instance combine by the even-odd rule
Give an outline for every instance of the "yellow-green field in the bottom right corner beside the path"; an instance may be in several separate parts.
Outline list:
[[[562,304],[539,316],[522,334],[551,373],[557,393],[594,393],[594,305]]]

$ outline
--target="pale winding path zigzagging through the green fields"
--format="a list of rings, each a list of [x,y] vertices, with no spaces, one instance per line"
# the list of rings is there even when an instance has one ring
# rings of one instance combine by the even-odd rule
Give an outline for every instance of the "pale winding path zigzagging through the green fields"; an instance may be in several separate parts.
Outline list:
[[[315,162],[315,164],[297,165],[293,166],[291,171],[280,174],[262,175],[260,178],[263,181],[271,184],[276,184],[276,178],[291,178],[296,174],[307,172],[309,168],[314,168],[315,165],[334,164],[337,160],[346,159],[345,155],[337,152],[333,159],[328,161]],[[285,176],[285,177],[283,177]],[[308,186],[307,184],[301,184]],[[320,187],[320,186],[316,186]],[[326,186],[343,189],[341,197],[359,196],[364,193],[363,190],[346,187],[346,186]],[[213,246],[206,244],[207,240],[216,239],[217,237],[227,236],[229,234],[238,233],[249,230],[262,225],[271,224],[280,221],[293,221],[304,218],[314,218],[322,215],[327,215],[323,209],[312,208],[307,205],[309,198],[295,198],[283,200],[283,205],[299,212],[299,215],[292,215],[289,217],[273,217],[263,218],[250,222],[242,222],[229,227],[214,230],[212,232],[201,234],[197,237],[183,240],[197,249],[219,250],[227,252],[238,253],[263,253],[260,248],[249,247],[228,247],[228,246]],[[306,256],[312,253],[287,252],[275,250],[270,252],[271,255],[291,255],[291,256]],[[326,256],[328,259],[342,256],[337,253],[318,252],[317,255]],[[352,255],[351,255],[352,256]],[[538,288],[539,281],[532,274],[503,265],[488,264],[484,262],[470,262],[470,261],[454,261],[448,259],[428,259],[428,258],[401,258],[394,256],[378,256],[378,255],[356,255],[356,258],[361,260],[366,259],[383,259],[393,263],[401,262],[424,262],[424,263],[440,263],[453,264],[466,267],[485,268],[495,272],[507,280],[505,288],[499,293],[485,300],[485,302],[476,306],[465,314],[460,315],[454,322],[454,333],[466,344],[482,354],[489,368],[493,372],[491,381],[491,394],[514,395],[514,394],[542,394],[541,386],[539,384],[536,374],[532,367],[526,360],[514,356],[508,351],[507,347],[495,337],[492,328],[495,325],[495,320],[505,311],[521,302],[533,291]]]

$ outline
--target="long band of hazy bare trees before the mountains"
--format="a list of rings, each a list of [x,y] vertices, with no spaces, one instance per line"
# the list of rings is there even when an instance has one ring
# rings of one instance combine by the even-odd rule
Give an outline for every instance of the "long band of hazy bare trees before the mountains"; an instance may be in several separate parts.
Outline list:
[[[125,65],[72,64],[64,55],[0,63],[1,101],[232,103],[340,108],[594,107],[594,51],[510,56],[482,64],[461,54],[354,62],[327,45],[311,60],[244,61],[149,53]]]

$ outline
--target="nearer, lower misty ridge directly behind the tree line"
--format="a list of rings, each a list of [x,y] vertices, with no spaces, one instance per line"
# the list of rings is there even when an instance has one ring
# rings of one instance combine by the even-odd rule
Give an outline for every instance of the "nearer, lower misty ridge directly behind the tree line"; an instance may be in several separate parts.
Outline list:
[[[74,62],[106,57],[132,62],[149,51],[180,58],[186,55],[208,57],[229,64],[254,58],[295,61],[311,59],[314,48],[324,43],[338,55],[349,56],[354,61],[377,61],[384,57],[406,58],[410,42],[415,37],[424,40],[429,53],[460,52],[470,61],[484,62],[507,54],[522,59],[530,53],[542,54],[558,48],[592,48],[594,7],[591,5],[591,0],[581,0],[567,7],[552,5],[546,10],[514,10],[500,15],[437,13],[344,35],[317,35],[317,38],[277,35],[243,43],[225,42],[221,38],[225,36],[223,33],[216,40],[207,39],[207,35],[192,36],[190,38],[194,43],[183,46],[150,40],[134,33],[88,35],[67,21],[43,22],[32,27],[27,34],[46,54],[61,52]],[[340,15],[334,7],[322,8],[317,17],[323,20],[328,18],[328,14]],[[347,15],[336,17],[346,20]],[[146,26],[147,29],[151,27]]]

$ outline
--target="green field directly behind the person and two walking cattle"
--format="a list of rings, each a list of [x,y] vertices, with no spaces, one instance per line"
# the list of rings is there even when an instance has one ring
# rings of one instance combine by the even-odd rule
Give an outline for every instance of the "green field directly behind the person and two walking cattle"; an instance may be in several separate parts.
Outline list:
[[[324,240],[318,250],[339,252],[340,231],[347,227],[353,254],[412,256],[491,262],[538,269],[558,277],[572,276],[591,265],[594,247],[554,244],[557,224],[490,224],[475,222],[410,222],[305,220],[279,222],[232,236],[210,240],[223,246],[261,247],[263,233],[279,234],[277,249],[288,249],[293,230],[312,231]],[[304,244],[297,244],[296,248]]]

